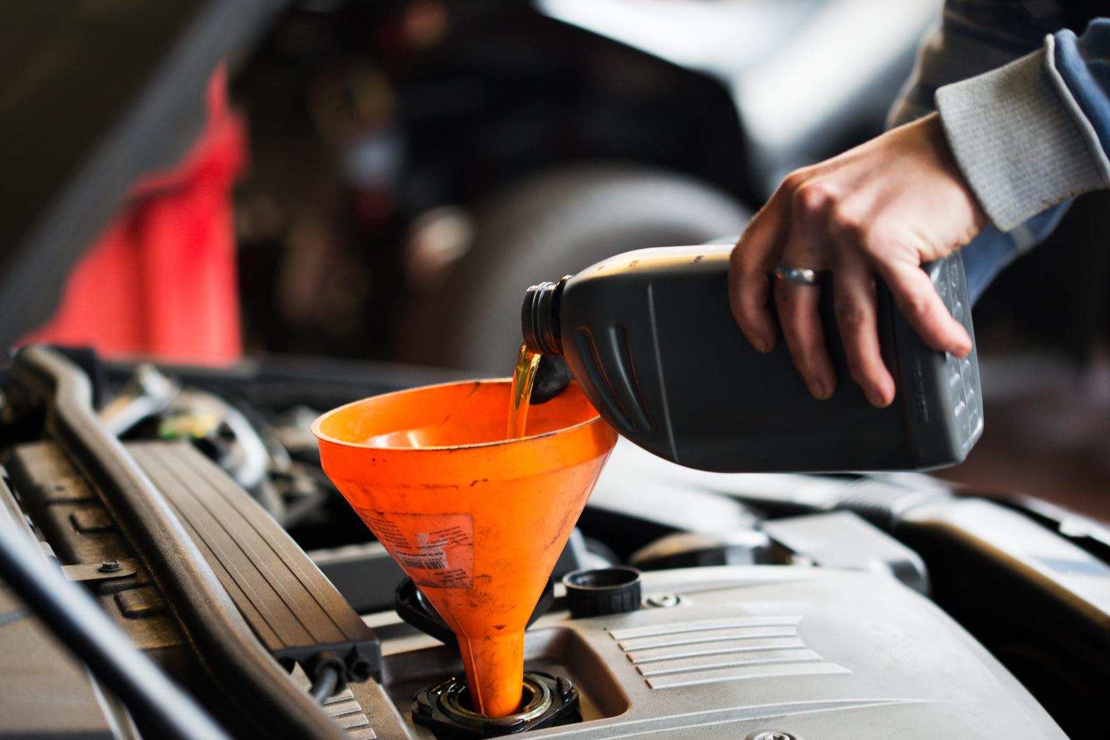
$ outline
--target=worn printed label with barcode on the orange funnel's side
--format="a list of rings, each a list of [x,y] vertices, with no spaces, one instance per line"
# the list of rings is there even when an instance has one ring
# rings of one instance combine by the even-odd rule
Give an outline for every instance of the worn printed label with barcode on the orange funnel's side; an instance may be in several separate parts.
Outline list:
[[[417,586],[474,585],[474,518],[470,514],[391,514],[359,509],[393,559]]]

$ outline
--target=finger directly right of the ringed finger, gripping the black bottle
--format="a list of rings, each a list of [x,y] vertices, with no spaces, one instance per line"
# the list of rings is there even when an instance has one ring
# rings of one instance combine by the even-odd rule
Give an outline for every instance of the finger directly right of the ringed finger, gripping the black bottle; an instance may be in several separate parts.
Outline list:
[[[858,252],[844,251],[833,267],[833,305],[851,375],[878,408],[895,399],[895,379],[879,352],[875,278]]]

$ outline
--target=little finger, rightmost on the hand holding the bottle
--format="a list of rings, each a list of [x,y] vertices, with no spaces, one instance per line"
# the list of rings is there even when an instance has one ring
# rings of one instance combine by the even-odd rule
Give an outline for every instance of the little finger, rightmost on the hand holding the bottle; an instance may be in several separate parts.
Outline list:
[[[877,267],[890,288],[898,310],[927,345],[957,357],[965,357],[971,352],[971,337],[967,330],[948,313],[932,281],[920,266],[886,263]]]

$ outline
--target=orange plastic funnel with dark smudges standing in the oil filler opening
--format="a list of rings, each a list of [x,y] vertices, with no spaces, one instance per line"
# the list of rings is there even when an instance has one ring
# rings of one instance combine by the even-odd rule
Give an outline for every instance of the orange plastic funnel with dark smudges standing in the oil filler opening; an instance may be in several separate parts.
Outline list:
[[[454,630],[487,717],[519,707],[524,627],[617,440],[577,384],[505,440],[508,392],[434,385],[312,425],[324,472]]]

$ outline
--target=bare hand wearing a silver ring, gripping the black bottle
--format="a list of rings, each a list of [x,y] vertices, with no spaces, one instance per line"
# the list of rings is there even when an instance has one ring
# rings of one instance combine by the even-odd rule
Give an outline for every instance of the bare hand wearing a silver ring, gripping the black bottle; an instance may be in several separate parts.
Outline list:
[[[733,315],[759,352],[777,339],[767,307],[778,263],[833,272],[833,304],[852,379],[878,407],[895,397],[879,355],[875,276],[934,349],[963,357],[971,338],[920,268],[987,225],[934,113],[825,162],[791,172],[733,249]],[[816,398],[836,389],[817,314],[820,287],[775,281],[775,305],[794,365]]]

